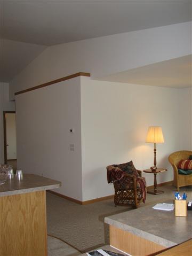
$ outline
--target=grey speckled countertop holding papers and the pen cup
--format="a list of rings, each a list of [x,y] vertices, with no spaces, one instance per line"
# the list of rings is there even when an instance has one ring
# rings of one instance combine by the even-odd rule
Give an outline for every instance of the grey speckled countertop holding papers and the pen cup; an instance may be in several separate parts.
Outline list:
[[[187,217],[175,217],[174,210],[154,210],[154,205],[106,217],[105,222],[165,247],[191,238],[192,211],[187,211]]]

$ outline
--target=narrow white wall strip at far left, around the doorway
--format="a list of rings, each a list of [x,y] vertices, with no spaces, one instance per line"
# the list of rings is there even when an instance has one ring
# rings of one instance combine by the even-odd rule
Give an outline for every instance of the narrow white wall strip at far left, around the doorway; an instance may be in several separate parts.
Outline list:
[[[9,100],[9,83],[0,82],[0,162],[4,163],[3,111],[15,111],[15,103]]]

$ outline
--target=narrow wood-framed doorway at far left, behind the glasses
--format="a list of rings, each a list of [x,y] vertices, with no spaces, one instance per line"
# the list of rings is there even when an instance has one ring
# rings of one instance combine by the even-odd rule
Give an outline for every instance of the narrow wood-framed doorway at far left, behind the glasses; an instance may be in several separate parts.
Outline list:
[[[17,169],[17,141],[15,111],[3,112],[4,125],[4,161],[5,164],[12,165]]]

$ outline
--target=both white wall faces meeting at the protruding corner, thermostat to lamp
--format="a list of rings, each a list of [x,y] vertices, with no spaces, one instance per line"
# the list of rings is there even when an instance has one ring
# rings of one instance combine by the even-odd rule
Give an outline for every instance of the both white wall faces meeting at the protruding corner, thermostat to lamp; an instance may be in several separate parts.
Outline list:
[[[106,166],[130,160],[140,170],[152,166],[154,145],[145,143],[147,130],[162,126],[165,143],[157,144],[157,166],[168,172],[157,175],[157,182],[171,181],[167,157],[191,149],[190,94],[191,88],[81,76],[18,95],[18,168],[60,180],[57,192],[77,200],[108,196],[114,189],[107,184]],[[74,152],[69,151],[72,143]],[[143,176],[153,185],[153,175]]]

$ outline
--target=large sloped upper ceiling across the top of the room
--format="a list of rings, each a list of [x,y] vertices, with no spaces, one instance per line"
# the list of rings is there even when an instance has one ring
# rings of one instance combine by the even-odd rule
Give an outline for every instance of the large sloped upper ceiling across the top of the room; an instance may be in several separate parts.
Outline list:
[[[191,20],[191,1],[182,0],[1,0],[0,7],[2,82],[11,81],[49,45]]]

